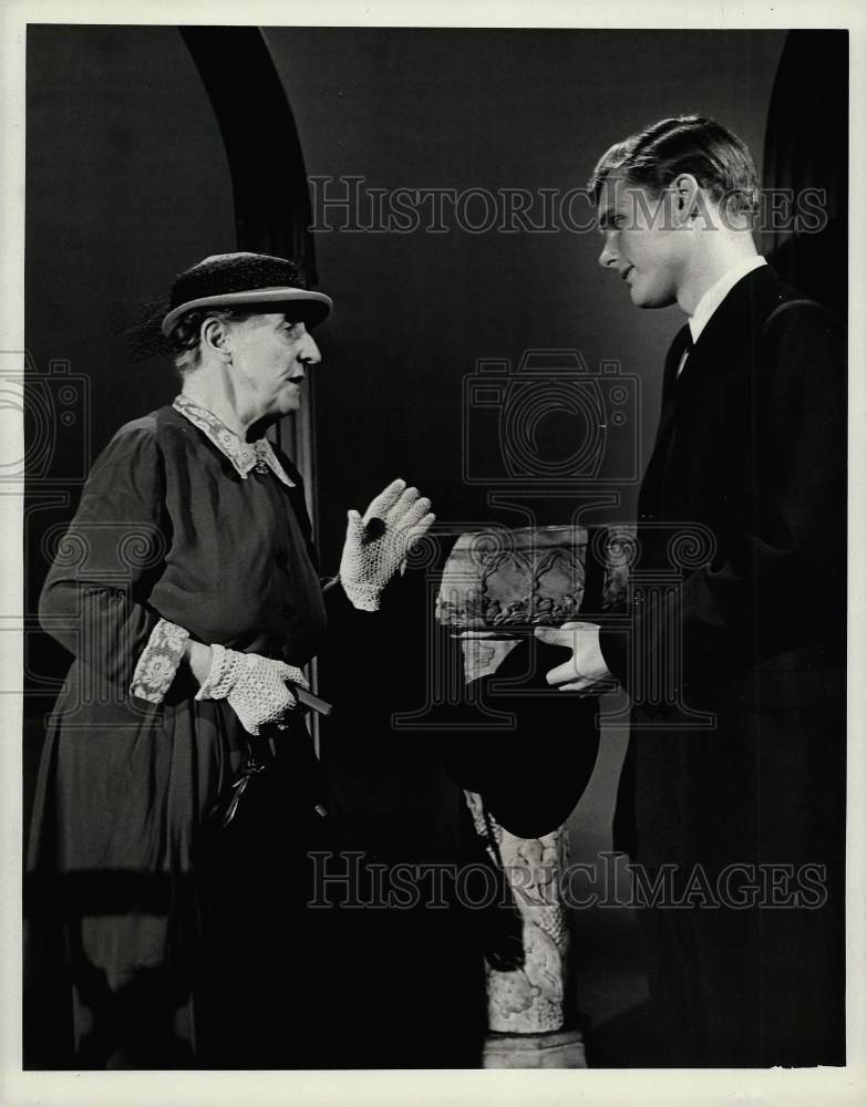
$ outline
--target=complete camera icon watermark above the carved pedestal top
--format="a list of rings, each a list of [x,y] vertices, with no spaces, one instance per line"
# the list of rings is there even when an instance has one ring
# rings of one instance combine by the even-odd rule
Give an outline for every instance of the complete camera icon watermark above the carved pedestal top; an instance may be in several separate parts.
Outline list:
[[[479,358],[464,379],[467,484],[634,484],[641,464],[641,382],[619,361],[595,369],[578,350]]]

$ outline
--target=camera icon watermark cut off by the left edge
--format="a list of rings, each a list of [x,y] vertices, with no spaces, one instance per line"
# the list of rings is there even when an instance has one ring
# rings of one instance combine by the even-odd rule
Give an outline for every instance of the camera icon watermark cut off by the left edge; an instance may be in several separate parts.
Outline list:
[[[83,484],[91,465],[90,385],[68,361],[40,370],[27,351],[0,351],[0,482]]]

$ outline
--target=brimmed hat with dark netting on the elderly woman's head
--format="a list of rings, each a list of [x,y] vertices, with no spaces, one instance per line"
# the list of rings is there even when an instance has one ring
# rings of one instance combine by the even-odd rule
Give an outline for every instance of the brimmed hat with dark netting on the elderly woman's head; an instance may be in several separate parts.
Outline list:
[[[161,330],[168,338],[180,317],[196,308],[254,303],[272,311],[291,304],[292,315],[308,327],[321,323],[333,307],[330,297],[301,284],[293,261],[268,254],[215,254],[175,278]]]

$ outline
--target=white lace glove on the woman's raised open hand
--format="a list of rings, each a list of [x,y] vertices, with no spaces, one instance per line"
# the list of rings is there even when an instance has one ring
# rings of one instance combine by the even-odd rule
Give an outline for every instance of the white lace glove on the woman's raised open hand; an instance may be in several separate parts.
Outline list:
[[[413,545],[432,526],[431,501],[405,480],[393,480],[363,516],[349,511],[347,540],[340,559],[340,582],[352,606],[376,611],[382,590]]]

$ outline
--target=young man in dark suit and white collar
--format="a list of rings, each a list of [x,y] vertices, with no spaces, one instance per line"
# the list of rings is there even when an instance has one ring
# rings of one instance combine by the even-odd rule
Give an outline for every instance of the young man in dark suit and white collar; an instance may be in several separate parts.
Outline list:
[[[639,911],[661,1062],[844,1064],[845,344],[757,255],[755,170],[725,127],[663,120],[612,146],[591,187],[599,263],[636,307],[688,321],[629,632],[538,631],[574,650],[548,680],[613,675],[633,702],[617,821],[644,882],[669,881]],[[642,583],[670,572],[680,587]]]

